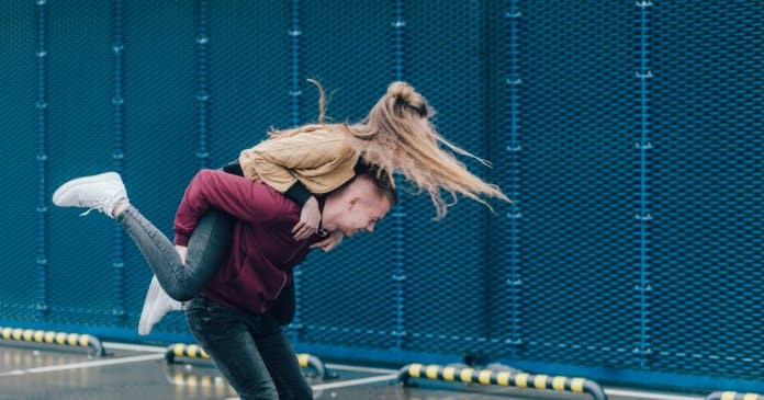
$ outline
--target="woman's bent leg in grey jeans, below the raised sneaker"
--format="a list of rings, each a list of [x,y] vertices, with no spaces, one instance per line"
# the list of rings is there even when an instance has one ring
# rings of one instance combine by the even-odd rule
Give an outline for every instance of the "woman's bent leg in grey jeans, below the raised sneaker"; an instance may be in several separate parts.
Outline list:
[[[209,209],[193,229],[181,263],[175,244],[132,205],[116,221],[138,245],[165,292],[179,301],[194,298],[215,272],[231,245],[234,224],[228,214]]]

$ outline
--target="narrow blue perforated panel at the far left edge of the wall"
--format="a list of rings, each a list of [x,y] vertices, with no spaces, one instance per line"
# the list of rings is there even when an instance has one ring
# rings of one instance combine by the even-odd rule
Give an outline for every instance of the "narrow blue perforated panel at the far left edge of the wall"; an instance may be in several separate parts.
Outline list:
[[[35,18],[30,9],[8,9],[0,13],[0,150],[7,162],[0,174],[0,202],[5,209],[0,229],[4,261],[0,271],[13,271],[14,278],[0,279],[0,315],[31,319],[35,315],[37,286],[36,204],[37,179],[37,100]],[[11,84],[11,82],[16,82]],[[13,172],[13,173],[10,173]],[[12,229],[11,229],[12,228]],[[21,283],[24,284],[21,284]]]

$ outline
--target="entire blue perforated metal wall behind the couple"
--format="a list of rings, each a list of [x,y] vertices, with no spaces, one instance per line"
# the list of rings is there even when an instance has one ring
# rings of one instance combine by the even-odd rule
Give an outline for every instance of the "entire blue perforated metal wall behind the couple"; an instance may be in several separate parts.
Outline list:
[[[168,236],[199,168],[407,80],[515,205],[404,195],[299,270],[300,350],[464,354],[619,384],[764,391],[760,1],[18,2],[0,13],[0,322],[138,340],[150,277],[102,217],[117,170]],[[182,316],[149,341],[189,341]]]

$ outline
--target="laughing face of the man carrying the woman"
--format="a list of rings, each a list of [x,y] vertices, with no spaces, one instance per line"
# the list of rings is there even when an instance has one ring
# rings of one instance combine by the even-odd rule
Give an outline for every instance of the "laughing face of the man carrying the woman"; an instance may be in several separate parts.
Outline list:
[[[346,237],[360,231],[374,231],[374,225],[390,210],[387,197],[378,193],[364,193],[340,203],[341,213],[332,230],[340,230]]]

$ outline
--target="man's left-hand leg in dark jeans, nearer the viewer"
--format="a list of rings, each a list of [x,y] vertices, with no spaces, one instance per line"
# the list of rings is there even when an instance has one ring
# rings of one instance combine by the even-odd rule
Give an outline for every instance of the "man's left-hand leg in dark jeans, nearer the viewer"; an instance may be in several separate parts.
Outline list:
[[[241,400],[279,399],[251,334],[258,331],[260,317],[196,297],[189,304],[186,319],[191,333]]]

